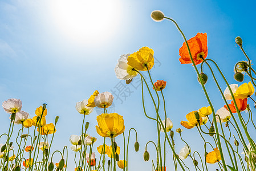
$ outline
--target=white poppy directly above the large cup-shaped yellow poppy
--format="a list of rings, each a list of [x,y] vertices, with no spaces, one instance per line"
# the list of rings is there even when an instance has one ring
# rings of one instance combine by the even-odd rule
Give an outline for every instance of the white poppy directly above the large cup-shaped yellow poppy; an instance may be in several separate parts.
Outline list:
[[[108,108],[113,102],[113,95],[110,92],[99,93],[94,99],[94,103],[99,108]]]

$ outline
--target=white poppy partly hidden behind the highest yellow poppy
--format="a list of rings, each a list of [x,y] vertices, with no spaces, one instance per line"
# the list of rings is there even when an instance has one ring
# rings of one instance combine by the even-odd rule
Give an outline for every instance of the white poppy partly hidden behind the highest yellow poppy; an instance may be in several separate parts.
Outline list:
[[[130,54],[121,55],[115,67],[116,77],[120,80],[134,78],[138,73],[133,71],[133,67],[127,64],[127,58]]]

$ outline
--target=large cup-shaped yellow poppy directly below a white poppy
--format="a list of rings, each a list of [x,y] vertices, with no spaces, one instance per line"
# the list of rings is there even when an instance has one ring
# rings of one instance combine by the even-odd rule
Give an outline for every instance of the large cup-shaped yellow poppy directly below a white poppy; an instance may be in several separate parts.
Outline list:
[[[116,137],[124,132],[123,116],[117,113],[102,113],[97,116],[97,133],[102,137]]]

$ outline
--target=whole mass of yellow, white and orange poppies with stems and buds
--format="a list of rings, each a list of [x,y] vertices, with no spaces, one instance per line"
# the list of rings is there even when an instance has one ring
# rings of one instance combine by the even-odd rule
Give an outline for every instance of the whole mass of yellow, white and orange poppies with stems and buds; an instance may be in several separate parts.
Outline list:
[[[143,154],[145,162],[152,165],[152,170],[209,170],[209,165],[216,166],[216,170],[256,170],[256,144],[254,137],[250,136],[251,131],[255,131],[256,127],[253,120],[253,111],[255,107],[250,107],[247,101],[253,101],[255,104],[256,71],[251,65],[249,56],[246,55],[242,46],[242,39],[235,38],[235,43],[241,48],[245,60],[237,62],[234,66],[234,79],[241,82],[238,84],[229,84],[225,76],[221,72],[221,68],[214,60],[207,58],[208,55],[208,39],[206,33],[198,32],[193,38],[186,39],[184,33],[177,25],[176,21],[165,17],[161,11],[153,11],[151,17],[154,21],[163,20],[171,21],[184,38],[184,43],[179,49],[181,64],[192,64],[197,74],[197,79],[202,87],[209,106],[202,106],[200,109],[191,109],[185,117],[186,121],[180,121],[180,127],[173,130],[173,123],[168,117],[166,111],[166,102],[164,98],[164,89],[166,87],[165,80],[157,80],[153,82],[151,73],[149,72],[154,66],[154,51],[149,47],[141,47],[139,51],[131,54],[121,55],[115,67],[117,79],[123,80],[126,84],[133,81],[133,78],[139,77],[141,80],[141,97],[144,115],[156,123],[157,140],[148,141],[147,144],[139,144],[137,140],[137,132],[129,125],[124,125],[123,116],[119,113],[109,113],[114,96],[110,92],[95,92],[88,97],[88,100],[76,103],[76,110],[83,115],[82,128],[80,135],[71,135],[70,143],[63,147],[62,151],[52,150],[54,145],[54,135],[56,132],[56,124],[59,117],[56,116],[54,123],[47,123],[47,105],[36,108],[35,116],[29,118],[29,113],[22,111],[22,101],[19,99],[8,99],[3,101],[2,107],[5,112],[10,115],[10,126],[0,136],[0,158],[2,170],[67,170],[68,151],[75,152],[74,162],[75,168],[72,170],[128,170],[128,145],[129,136],[124,135],[125,129],[135,131],[136,142],[133,150],[136,152],[143,146],[145,152]],[[165,21],[163,21],[165,22]],[[212,101],[205,87],[208,81],[208,75],[204,73],[204,67],[209,68],[209,77],[213,77],[216,86],[221,93],[223,107],[214,108]],[[217,68],[213,71],[212,67]],[[221,89],[220,83],[217,81],[215,74],[221,75],[226,84],[226,89]],[[145,80],[145,75],[150,82]],[[251,79],[248,83],[243,83],[244,76]],[[157,79],[157,78],[155,78]],[[147,92],[147,95],[145,95]],[[152,100],[155,109],[155,116],[149,116],[147,112],[147,104],[144,99]],[[160,103],[164,105],[160,105]],[[163,108],[161,110],[161,107]],[[104,113],[96,116],[97,137],[88,135],[88,127],[90,123],[86,120],[86,116],[90,115],[94,108],[104,109]],[[164,111],[161,113],[160,111]],[[247,115],[242,115],[247,113]],[[21,125],[18,132],[14,132],[15,125]],[[176,123],[177,124],[177,123]],[[252,125],[254,130],[247,129],[248,125]],[[190,148],[189,141],[182,138],[184,129],[197,129],[202,141],[204,141],[204,153],[197,152],[197,149]],[[228,134],[226,132],[229,132]],[[185,143],[184,148],[177,153],[174,143],[174,133],[180,136],[180,141]],[[117,142],[115,137],[123,136],[123,142]],[[210,137],[211,141],[206,140]],[[94,146],[97,139],[103,139],[103,144]],[[111,141],[107,144],[106,139]],[[249,142],[249,144],[247,143]],[[156,149],[156,158],[150,158],[147,145],[152,143]],[[123,149],[118,144],[124,144]],[[70,146],[71,145],[71,146]],[[238,146],[243,149],[241,153]],[[131,148],[131,147],[130,147]],[[130,149],[131,150],[131,149]],[[172,151],[172,158],[166,156],[166,150]],[[95,154],[97,153],[97,155]],[[120,153],[123,153],[120,158]],[[96,157],[97,156],[97,157]],[[59,158],[59,162],[54,163],[53,158]],[[186,160],[185,160],[186,159]],[[70,160],[70,158],[69,158]],[[173,167],[168,168],[167,162],[172,160]],[[191,168],[186,161],[192,161]],[[70,170],[70,169],[69,169]]]

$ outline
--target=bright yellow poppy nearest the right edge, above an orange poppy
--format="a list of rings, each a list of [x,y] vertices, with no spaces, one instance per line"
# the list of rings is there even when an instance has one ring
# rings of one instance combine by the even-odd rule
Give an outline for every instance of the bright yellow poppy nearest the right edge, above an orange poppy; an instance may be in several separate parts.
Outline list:
[[[243,83],[241,86],[237,88],[237,91],[234,93],[235,99],[245,99],[254,93],[254,87],[251,82]]]

